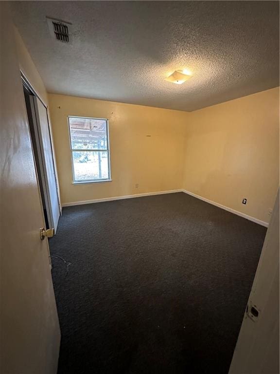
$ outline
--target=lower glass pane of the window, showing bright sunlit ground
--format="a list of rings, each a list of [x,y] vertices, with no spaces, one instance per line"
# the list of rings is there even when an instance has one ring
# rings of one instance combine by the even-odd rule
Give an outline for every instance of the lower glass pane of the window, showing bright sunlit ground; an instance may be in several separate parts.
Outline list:
[[[108,152],[73,151],[74,180],[109,179]]]

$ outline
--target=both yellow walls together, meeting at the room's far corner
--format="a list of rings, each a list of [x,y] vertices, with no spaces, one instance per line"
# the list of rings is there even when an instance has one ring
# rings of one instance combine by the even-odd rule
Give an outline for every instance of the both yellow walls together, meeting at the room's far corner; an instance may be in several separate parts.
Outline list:
[[[62,204],[183,188],[269,221],[279,185],[278,88],[191,113],[57,94],[49,103]],[[109,119],[112,182],[72,184],[68,115]]]

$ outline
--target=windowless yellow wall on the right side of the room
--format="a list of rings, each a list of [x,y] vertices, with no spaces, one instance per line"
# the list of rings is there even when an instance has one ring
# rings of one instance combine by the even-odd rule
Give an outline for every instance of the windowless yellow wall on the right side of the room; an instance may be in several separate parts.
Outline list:
[[[192,112],[186,139],[183,187],[268,222],[279,186],[279,88]]]

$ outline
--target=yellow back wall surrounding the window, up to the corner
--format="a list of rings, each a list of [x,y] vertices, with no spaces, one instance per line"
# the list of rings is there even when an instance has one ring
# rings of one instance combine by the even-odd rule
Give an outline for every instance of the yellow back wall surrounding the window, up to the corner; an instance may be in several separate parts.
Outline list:
[[[62,204],[182,188],[190,113],[57,94],[49,103]],[[72,184],[68,115],[108,118],[112,182]]]

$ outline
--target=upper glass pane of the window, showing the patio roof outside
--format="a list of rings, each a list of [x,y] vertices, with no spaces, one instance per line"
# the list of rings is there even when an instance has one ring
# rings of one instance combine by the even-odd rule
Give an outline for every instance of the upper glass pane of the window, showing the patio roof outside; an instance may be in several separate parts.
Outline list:
[[[105,119],[69,117],[71,147],[73,150],[106,150]]]

